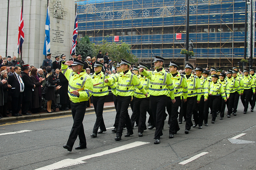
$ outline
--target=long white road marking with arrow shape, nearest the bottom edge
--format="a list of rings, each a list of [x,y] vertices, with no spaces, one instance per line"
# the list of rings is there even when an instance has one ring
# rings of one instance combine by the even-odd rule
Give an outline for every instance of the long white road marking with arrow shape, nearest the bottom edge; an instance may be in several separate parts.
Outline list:
[[[83,160],[86,160],[86,159],[90,159],[90,158],[93,158],[93,157],[98,157],[98,156],[102,156],[102,155],[106,155],[106,154],[111,154],[111,153],[127,150],[127,149],[130,149],[130,148],[134,148],[134,147],[141,146],[141,145],[148,144],[148,143],[150,143],[150,142],[139,142],[139,141],[132,142],[132,143],[129,143],[129,144],[126,144],[126,145],[123,145],[123,146],[119,146],[117,148],[113,148],[113,149],[110,149],[110,150],[106,150],[106,151],[103,151],[103,152],[99,152],[99,153],[96,153],[96,154],[87,155],[87,156],[83,156],[83,157],[76,158],[76,159],[64,159],[64,160],[58,161],[57,163],[47,165],[45,167],[38,168],[38,169],[35,169],[35,170],[54,170],[54,169],[69,167],[69,166],[72,166],[72,165],[84,164],[86,162],[83,161]]]

